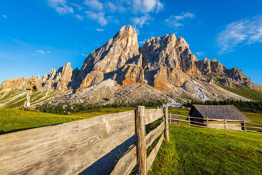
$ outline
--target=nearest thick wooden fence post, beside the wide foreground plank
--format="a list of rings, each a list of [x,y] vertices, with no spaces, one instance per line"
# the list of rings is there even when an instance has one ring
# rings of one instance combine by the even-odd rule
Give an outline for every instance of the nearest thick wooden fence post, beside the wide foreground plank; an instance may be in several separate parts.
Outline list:
[[[146,133],[145,133],[145,107],[137,106],[135,110],[135,131],[137,134],[137,174],[146,175]]]

